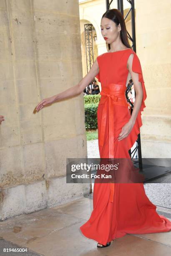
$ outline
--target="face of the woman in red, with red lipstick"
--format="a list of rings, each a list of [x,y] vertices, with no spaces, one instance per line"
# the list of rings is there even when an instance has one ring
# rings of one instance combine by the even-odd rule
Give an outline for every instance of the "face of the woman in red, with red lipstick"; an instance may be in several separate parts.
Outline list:
[[[114,23],[112,20],[108,18],[101,19],[101,34],[107,44],[111,44],[113,41],[116,41],[120,30],[120,24],[117,27],[116,23]]]

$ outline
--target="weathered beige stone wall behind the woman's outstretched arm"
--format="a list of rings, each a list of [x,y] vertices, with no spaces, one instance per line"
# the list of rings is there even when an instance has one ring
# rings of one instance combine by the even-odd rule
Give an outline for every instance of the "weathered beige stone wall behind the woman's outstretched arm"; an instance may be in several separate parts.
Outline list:
[[[82,197],[66,158],[85,158],[83,93],[33,113],[82,79],[77,0],[0,1],[0,220]]]

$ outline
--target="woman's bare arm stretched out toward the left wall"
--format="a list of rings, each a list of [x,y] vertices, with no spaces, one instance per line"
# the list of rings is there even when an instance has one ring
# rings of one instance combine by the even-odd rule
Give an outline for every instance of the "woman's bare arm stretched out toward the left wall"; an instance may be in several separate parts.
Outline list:
[[[36,106],[36,110],[39,111],[45,105],[51,104],[55,101],[59,101],[59,100],[66,99],[68,97],[73,97],[75,95],[79,95],[81,92],[83,92],[85,87],[94,79],[94,77],[98,74],[98,72],[99,72],[99,67],[98,67],[98,62],[96,59],[96,61],[94,61],[93,65],[92,65],[90,71],[88,72],[88,74],[86,74],[86,76],[83,77],[83,79],[81,79],[78,84],[74,85],[73,87],[70,87],[69,89],[67,89],[63,92],[58,93],[57,95],[54,95],[52,97],[42,100]]]

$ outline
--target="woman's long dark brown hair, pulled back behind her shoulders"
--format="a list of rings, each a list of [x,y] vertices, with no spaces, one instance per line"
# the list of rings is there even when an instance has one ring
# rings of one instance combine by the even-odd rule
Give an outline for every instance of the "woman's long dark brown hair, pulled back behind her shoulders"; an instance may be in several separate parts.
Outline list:
[[[126,25],[125,25],[125,20],[123,18],[122,13],[118,9],[111,9],[107,10],[102,18],[108,18],[112,20],[114,23],[116,23],[116,26],[121,25],[121,31],[120,31],[120,36],[121,36],[121,41],[122,43],[128,47],[131,48],[129,41],[128,41],[128,36],[127,36],[127,31],[126,31]],[[107,50],[109,51],[111,49],[111,45],[106,43]]]

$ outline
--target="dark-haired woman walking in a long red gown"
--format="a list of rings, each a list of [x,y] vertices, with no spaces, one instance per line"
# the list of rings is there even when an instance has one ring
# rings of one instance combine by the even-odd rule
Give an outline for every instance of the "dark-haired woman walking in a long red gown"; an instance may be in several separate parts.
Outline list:
[[[119,10],[111,9],[103,14],[101,33],[108,52],[97,57],[91,70],[77,85],[42,100],[36,110],[80,94],[97,77],[102,87],[97,110],[100,157],[130,158],[128,150],[140,133],[141,111],[146,107],[141,64],[128,43],[125,21]],[[129,73],[136,90],[132,115],[125,96]],[[93,211],[80,230],[87,238],[97,241],[98,248],[103,248],[127,233],[167,232],[171,230],[171,222],[158,215],[142,183],[94,183]]]

